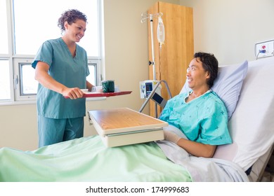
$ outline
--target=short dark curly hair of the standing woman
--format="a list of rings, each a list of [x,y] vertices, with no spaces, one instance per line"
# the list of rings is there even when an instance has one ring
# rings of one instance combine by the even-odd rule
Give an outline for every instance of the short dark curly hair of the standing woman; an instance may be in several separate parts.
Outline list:
[[[74,23],[76,20],[84,20],[84,22],[86,22],[87,18],[86,15],[84,15],[84,13],[81,13],[79,10],[66,10],[58,19],[58,27],[61,29],[61,32],[63,33],[65,31],[65,22],[67,21],[69,25],[72,25],[72,23]]]

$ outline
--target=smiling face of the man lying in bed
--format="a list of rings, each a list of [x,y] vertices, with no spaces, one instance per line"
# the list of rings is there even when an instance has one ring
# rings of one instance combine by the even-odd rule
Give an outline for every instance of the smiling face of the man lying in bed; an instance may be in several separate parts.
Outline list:
[[[188,79],[188,87],[192,90],[198,90],[201,87],[209,88],[209,85],[207,85],[207,79],[209,79],[210,76],[208,71],[205,71],[202,67],[200,58],[194,58],[190,62],[186,77]]]

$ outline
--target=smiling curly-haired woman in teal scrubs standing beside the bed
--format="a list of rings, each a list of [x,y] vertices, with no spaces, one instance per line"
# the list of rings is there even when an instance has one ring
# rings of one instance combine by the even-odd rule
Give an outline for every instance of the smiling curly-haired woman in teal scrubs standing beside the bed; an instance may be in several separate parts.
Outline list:
[[[86,31],[86,20],[79,10],[65,11],[58,20],[63,36],[45,41],[32,62],[39,82],[39,147],[83,137],[86,99],[81,89],[93,87],[86,80],[86,50],[77,44]]]

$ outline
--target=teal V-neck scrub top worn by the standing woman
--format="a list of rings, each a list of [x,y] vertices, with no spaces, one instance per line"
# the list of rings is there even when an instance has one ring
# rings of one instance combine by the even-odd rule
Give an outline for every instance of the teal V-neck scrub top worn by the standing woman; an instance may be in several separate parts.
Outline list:
[[[67,87],[86,88],[86,76],[89,76],[86,50],[76,45],[76,55],[62,38],[45,41],[39,48],[32,67],[37,62],[46,62],[50,66],[48,74]],[[86,99],[65,99],[62,94],[49,90],[39,84],[37,90],[37,113],[46,118],[79,118],[86,115]]]

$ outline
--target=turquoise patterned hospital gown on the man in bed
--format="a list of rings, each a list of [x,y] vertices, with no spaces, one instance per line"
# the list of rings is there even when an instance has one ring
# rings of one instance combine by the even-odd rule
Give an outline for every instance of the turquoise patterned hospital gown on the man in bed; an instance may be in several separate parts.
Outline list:
[[[169,99],[159,119],[178,127],[188,139],[202,144],[231,144],[228,113],[215,92],[209,90],[186,103],[190,92]]]

